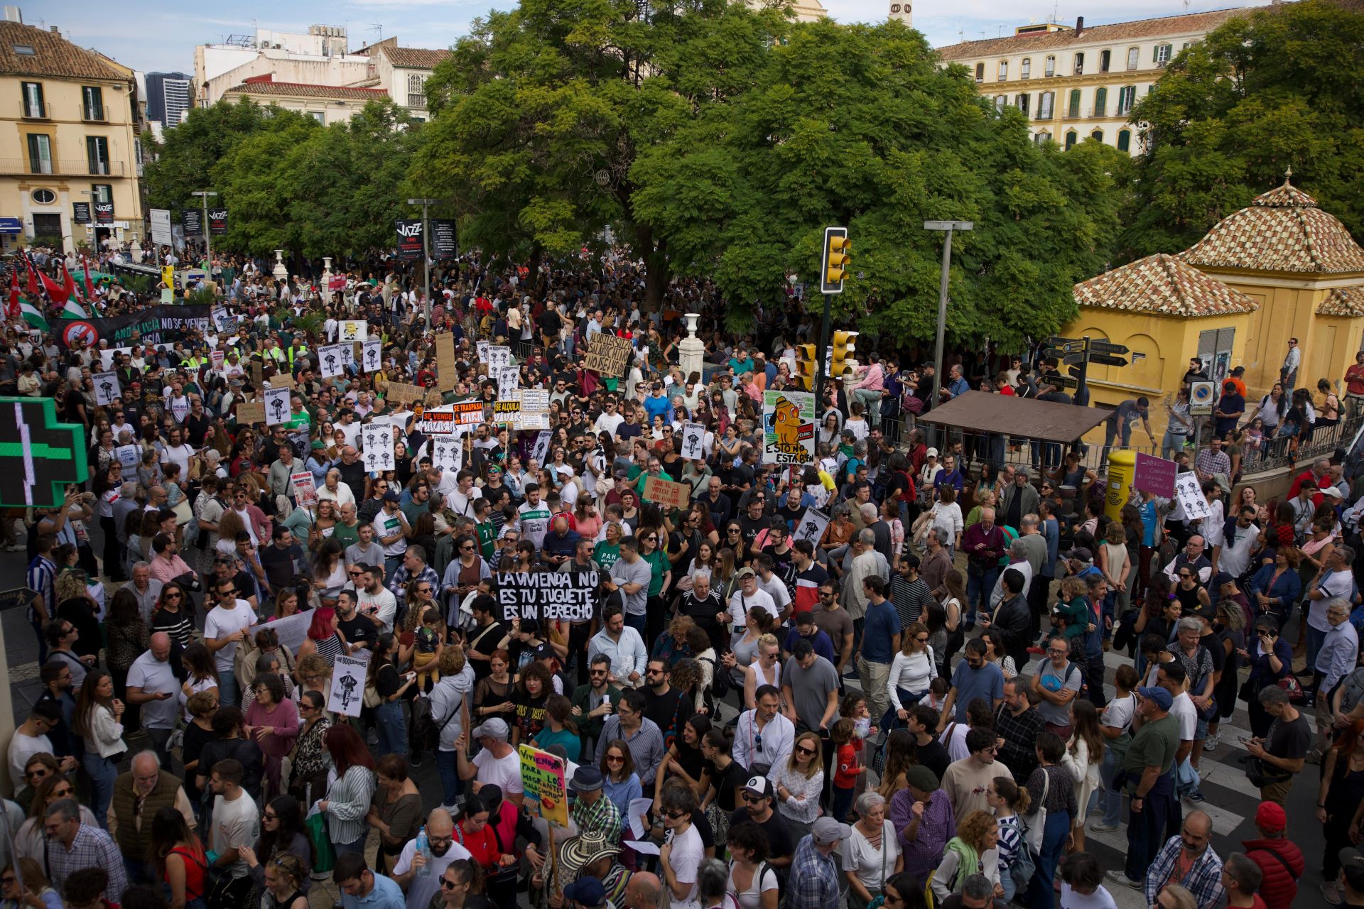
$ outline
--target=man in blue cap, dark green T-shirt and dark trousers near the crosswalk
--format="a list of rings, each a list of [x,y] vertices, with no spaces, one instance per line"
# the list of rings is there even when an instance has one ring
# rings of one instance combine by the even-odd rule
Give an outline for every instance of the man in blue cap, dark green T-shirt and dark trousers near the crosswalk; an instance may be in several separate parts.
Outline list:
[[[1178,722],[1170,715],[1174,698],[1165,688],[1138,688],[1140,699],[1132,720],[1132,743],[1123,756],[1129,796],[1127,826],[1127,868],[1109,871],[1108,878],[1128,887],[1140,887],[1146,867],[1165,835],[1165,823],[1174,801],[1174,754],[1180,748]],[[1162,882],[1163,883],[1163,882]]]

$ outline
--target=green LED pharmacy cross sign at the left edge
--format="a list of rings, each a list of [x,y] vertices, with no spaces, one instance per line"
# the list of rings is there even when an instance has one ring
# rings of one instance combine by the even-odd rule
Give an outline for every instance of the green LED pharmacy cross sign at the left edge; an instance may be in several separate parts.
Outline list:
[[[52,398],[0,398],[0,506],[56,508],[90,477],[86,431],[57,422]]]

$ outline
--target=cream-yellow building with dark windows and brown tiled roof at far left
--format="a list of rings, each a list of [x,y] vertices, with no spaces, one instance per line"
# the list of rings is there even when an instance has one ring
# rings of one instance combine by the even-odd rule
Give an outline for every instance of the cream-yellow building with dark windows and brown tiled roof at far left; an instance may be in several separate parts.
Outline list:
[[[0,20],[0,215],[18,219],[0,249],[140,237],[131,75],[55,27]],[[79,203],[105,224],[78,224]]]

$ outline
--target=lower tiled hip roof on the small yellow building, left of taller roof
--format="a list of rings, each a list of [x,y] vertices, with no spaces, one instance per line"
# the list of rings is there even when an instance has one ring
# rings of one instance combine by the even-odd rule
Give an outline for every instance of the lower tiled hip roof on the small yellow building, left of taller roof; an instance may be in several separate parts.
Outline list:
[[[1255,300],[1178,258],[1157,253],[1075,285],[1075,303],[1099,309],[1198,319],[1255,312]]]

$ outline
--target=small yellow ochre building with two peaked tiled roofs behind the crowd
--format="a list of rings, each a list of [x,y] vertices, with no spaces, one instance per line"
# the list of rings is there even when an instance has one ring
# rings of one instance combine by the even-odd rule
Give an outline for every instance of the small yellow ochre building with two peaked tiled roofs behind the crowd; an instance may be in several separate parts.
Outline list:
[[[1285,179],[1177,256],[1075,285],[1075,301],[1061,334],[1132,349],[1129,367],[1090,367],[1091,403],[1168,395],[1192,357],[1217,380],[1245,367],[1258,399],[1278,382],[1289,338],[1301,350],[1299,387],[1344,380],[1364,349],[1364,249]]]

